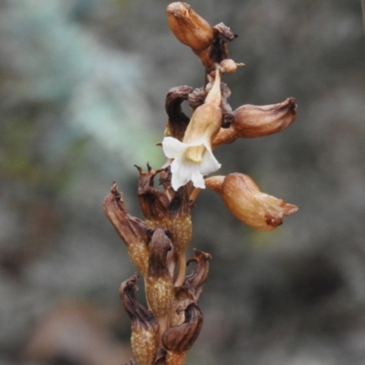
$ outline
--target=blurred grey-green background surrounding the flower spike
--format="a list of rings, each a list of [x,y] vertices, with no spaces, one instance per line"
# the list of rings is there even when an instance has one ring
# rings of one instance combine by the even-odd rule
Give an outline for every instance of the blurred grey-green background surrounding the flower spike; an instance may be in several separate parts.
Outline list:
[[[154,0],[0,1],[0,364],[130,359],[118,287],[134,273],[101,202],[140,216],[133,164],[164,158],[164,99],[203,66]],[[189,364],[365,364],[365,42],[358,0],[200,0],[238,34],[231,105],[295,97],[276,135],[216,150],[299,206],[271,233],[203,192],[192,247],[213,255]],[[140,296],[142,297],[142,290]]]

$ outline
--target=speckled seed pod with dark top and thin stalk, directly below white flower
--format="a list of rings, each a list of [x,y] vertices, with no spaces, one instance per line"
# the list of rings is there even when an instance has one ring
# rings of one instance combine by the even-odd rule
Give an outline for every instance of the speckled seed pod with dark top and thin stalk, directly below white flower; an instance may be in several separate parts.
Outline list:
[[[171,219],[172,245],[178,258],[178,275],[175,286],[180,287],[183,284],[186,267],[186,249],[192,240],[193,224],[190,214],[191,185],[186,184],[179,188],[174,194],[169,205]]]

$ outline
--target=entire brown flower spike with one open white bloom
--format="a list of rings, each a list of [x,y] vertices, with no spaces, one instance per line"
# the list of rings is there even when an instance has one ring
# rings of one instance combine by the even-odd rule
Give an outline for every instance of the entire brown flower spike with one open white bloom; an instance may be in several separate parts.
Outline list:
[[[243,65],[228,58],[227,44],[236,35],[223,23],[210,26],[185,3],[172,3],[167,15],[172,33],[202,61],[205,85],[172,88],[167,94],[169,119],[162,141],[167,162],[156,171],[149,164],[146,172],[136,166],[144,219],[128,213],[116,183],[103,203],[144,281],[148,308],[135,297],[139,275],[120,286],[120,299],[131,320],[131,348],[141,365],[184,364],[203,326],[198,301],[212,256],[194,249],[193,258],[186,259],[193,235],[191,209],[201,189],[208,187],[220,194],[239,220],[258,230],[273,230],[285,216],[297,212],[296,205],[261,193],[245,174],[207,177],[221,167],[214,148],[287,128],[297,116],[295,99],[233,110],[231,91],[222,77]],[[183,113],[183,101],[193,110],[191,118]],[[163,190],[154,187],[156,175]],[[186,276],[190,263],[195,265]]]

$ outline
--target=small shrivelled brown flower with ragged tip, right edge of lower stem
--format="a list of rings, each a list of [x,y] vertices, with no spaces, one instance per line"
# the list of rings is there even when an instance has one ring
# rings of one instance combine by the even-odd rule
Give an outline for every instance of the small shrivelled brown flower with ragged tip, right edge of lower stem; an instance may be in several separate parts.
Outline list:
[[[203,290],[203,284],[208,278],[209,274],[209,260],[212,259],[212,255],[199,251],[193,248],[194,257],[188,260],[186,265],[191,262],[195,262],[196,265],[193,268],[191,275],[186,276],[183,282],[184,287],[188,287],[193,293],[194,300],[198,301]]]

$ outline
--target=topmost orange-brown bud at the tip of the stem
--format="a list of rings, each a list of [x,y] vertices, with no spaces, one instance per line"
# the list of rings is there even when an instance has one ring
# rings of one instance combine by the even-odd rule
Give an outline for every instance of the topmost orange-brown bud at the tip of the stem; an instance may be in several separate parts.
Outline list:
[[[193,49],[198,56],[207,53],[213,41],[213,29],[202,16],[186,3],[172,3],[166,9],[168,23],[174,36]],[[202,55],[203,56],[203,55]]]

